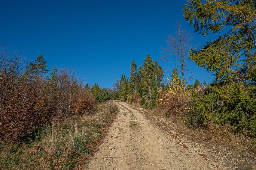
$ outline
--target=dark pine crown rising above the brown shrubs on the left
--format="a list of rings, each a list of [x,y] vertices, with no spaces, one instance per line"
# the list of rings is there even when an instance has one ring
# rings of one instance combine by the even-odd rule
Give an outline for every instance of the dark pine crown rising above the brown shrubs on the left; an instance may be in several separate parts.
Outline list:
[[[36,77],[41,75],[41,73],[49,72],[49,70],[46,69],[47,65],[46,65],[46,61],[43,58],[43,55],[39,55],[36,58],[35,63],[30,62],[27,68],[29,69],[29,72],[32,75],[35,75]]]

